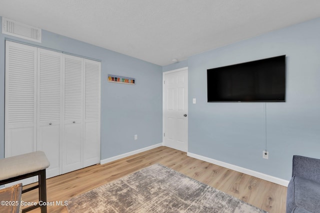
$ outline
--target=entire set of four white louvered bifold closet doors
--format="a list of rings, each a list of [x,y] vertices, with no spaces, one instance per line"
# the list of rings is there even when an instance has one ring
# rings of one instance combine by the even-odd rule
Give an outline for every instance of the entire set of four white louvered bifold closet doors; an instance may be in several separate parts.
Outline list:
[[[99,163],[100,62],[5,45],[4,156],[42,150],[46,177]]]

